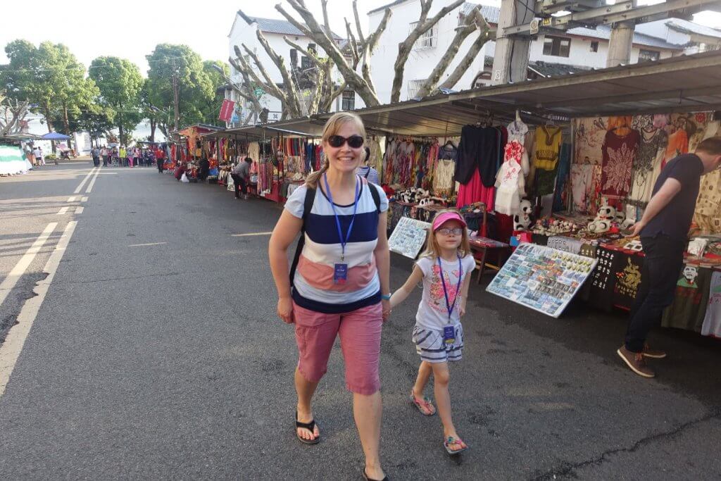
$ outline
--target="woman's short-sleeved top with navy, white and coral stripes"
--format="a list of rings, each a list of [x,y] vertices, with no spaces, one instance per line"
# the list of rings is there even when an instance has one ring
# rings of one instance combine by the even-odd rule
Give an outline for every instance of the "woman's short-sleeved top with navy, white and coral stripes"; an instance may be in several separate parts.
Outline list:
[[[345,262],[348,279],[345,283],[333,281],[334,265],[340,262],[342,247],[330,200],[318,188],[313,208],[306,219],[306,240],[298,260],[293,279],[293,301],[298,306],[324,314],[351,312],[381,301],[381,283],[376,269],[373,250],[378,243],[378,219],[373,195],[368,189],[379,190],[381,212],[388,210],[386,194],[377,185],[361,179],[358,193],[358,210],[353,231],[345,245]],[[301,219],[307,187],[298,187],[286,202],[286,210]],[[340,228],[345,235],[353,218],[353,204],[335,205]]]

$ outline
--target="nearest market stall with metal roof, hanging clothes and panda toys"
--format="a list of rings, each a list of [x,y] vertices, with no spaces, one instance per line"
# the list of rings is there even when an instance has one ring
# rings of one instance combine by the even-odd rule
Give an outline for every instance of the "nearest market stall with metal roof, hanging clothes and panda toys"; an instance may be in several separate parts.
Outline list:
[[[578,291],[609,309],[627,308],[641,281],[642,252],[624,227],[641,215],[665,162],[721,133],[717,110],[721,53],[708,52],[356,113],[368,132],[386,136],[381,182],[395,200],[391,227],[405,217],[430,221],[433,206],[482,203],[487,237],[597,261]],[[330,115],[273,125],[319,133]],[[720,182],[716,172],[703,180],[695,219],[705,234],[721,230]],[[713,278],[714,256],[707,250],[689,262]],[[678,291],[674,306],[688,297]]]

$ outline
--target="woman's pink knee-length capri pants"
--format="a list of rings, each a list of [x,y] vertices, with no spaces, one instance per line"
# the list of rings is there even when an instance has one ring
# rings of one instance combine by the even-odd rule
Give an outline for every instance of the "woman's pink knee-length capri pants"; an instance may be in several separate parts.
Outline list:
[[[381,389],[381,304],[345,314],[322,314],[293,303],[298,343],[298,371],[318,382],[327,371],[336,335],[345,360],[345,385],[355,394],[370,395]]]

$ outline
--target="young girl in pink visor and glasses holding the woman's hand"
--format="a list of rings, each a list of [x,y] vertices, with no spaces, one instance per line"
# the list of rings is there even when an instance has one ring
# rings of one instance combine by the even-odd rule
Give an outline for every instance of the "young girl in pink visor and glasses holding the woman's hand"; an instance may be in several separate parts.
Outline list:
[[[410,400],[423,415],[435,414],[435,407],[428,397],[423,396],[433,373],[433,391],[443,423],[443,446],[451,455],[468,449],[456,433],[451,418],[448,361],[461,360],[461,316],[466,313],[466,296],[474,268],[463,216],[452,209],[439,211],[428,232],[423,256],[403,287],[391,297],[391,308],[394,308],[423,280],[423,297],[418,305],[412,337],[421,363]]]

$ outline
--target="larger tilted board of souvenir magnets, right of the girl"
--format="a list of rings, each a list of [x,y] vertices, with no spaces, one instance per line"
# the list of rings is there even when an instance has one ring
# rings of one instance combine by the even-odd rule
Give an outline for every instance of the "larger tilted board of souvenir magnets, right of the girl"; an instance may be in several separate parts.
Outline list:
[[[559,317],[596,267],[596,262],[596,259],[551,247],[521,244],[486,290]]]

